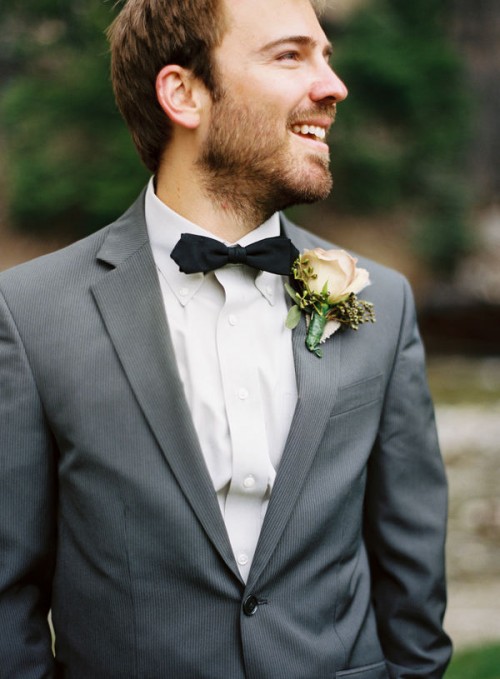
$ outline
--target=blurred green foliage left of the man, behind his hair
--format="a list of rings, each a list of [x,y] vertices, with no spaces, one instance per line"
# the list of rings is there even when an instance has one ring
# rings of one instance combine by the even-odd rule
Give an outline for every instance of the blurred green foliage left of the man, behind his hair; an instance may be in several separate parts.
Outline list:
[[[11,219],[24,230],[88,233],[147,178],[111,92],[112,18],[99,0],[25,0],[0,14],[10,29],[0,92],[6,185]]]

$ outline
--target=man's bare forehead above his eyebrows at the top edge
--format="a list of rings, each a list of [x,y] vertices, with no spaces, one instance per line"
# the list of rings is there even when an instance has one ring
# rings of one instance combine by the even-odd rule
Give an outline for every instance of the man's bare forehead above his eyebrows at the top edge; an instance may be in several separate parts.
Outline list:
[[[222,47],[256,51],[286,36],[327,44],[310,0],[223,0],[227,30]]]

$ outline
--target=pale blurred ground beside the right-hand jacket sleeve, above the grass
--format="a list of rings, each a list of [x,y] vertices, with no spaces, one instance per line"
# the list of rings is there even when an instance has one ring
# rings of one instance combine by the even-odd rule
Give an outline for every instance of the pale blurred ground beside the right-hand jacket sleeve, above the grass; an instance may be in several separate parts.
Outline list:
[[[446,629],[456,648],[500,641],[500,359],[433,358],[450,486]]]

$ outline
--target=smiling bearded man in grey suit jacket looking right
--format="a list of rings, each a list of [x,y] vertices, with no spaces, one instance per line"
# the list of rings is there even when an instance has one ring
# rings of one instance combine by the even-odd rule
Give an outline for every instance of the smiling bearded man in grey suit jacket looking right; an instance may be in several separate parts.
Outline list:
[[[278,213],[330,190],[347,93],[309,0],[128,0],[110,40],[154,182],[0,277],[0,677],[442,677],[408,286],[363,262],[377,323],[318,358],[286,276],[248,264],[262,239],[330,247]],[[183,272],[182,234],[229,263]]]

